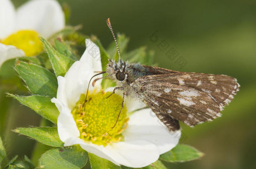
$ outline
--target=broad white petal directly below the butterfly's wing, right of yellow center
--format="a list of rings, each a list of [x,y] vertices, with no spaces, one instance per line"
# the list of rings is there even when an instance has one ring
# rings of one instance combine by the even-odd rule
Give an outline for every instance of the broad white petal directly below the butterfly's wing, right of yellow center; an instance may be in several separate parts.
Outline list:
[[[155,144],[159,154],[170,151],[180,139],[180,131],[170,133],[151,109],[143,109],[129,117],[128,127],[123,132],[125,141],[146,140]]]

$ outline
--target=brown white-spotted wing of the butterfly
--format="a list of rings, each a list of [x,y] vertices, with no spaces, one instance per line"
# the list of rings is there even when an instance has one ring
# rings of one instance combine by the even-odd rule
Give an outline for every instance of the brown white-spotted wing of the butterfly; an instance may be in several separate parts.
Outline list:
[[[236,79],[230,76],[152,68],[163,74],[140,77],[133,87],[172,131],[173,126],[167,125],[170,124],[168,116],[189,126],[211,121],[221,116],[219,111],[239,88]]]

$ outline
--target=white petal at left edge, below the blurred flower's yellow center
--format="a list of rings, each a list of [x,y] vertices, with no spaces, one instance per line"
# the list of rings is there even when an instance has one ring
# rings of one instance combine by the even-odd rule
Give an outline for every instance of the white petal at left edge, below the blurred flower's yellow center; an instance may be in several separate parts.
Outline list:
[[[5,45],[0,43],[0,66],[8,59],[25,56],[23,50],[16,48],[13,45]]]

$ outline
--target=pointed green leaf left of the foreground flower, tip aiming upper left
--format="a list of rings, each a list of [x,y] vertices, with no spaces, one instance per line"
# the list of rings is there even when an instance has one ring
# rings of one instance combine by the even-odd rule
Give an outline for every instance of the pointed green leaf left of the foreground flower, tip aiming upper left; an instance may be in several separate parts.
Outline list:
[[[8,96],[16,98],[21,104],[28,106],[32,110],[36,111],[37,114],[42,116],[44,119],[50,120],[57,124],[57,118],[59,111],[55,104],[51,102],[50,97],[33,95],[33,96],[17,96],[7,93]]]

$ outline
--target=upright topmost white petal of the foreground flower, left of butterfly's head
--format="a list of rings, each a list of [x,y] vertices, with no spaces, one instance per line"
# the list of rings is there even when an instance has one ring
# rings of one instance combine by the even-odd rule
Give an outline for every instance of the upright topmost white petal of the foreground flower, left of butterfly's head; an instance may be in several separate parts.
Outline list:
[[[93,71],[102,71],[101,57],[99,47],[95,45],[90,39],[85,40],[86,50],[82,55],[80,61],[85,61],[89,65],[92,65]],[[94,73],[96,74],[96,73]],[[97,78],[101,78],[102,75],[97,76]],[[100,88],[101,80],[95,83],[97,88]]]

